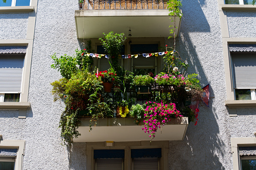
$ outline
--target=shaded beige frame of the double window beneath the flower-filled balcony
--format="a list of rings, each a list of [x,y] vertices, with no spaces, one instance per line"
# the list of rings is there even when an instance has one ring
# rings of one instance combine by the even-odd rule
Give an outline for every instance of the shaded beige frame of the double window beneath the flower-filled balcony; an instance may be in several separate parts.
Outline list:
[[[124,170],[132,169],[131,149],[151,149],[161,148],[161,158],[159,169],[168,169],[169,141],[133,141],[133,142],[86,142],[87,150],[87,169],[95,169],[94,150],[95,149],[124,149]],[[111,144],[110,144],[111,143]],[[111,145],[111,146],[110,146]]]

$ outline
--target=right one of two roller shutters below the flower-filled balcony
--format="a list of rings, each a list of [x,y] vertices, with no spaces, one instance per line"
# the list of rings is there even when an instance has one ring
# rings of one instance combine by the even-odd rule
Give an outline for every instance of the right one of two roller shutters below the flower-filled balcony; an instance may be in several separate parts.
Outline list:
[[[157,157],[133,158],[133,170],[158,170],[159,161]]]

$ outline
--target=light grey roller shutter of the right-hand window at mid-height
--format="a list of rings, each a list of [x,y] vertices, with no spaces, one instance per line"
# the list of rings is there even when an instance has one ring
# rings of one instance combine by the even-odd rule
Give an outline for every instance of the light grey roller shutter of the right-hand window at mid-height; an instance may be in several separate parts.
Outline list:
[[[256,89],[256,53],[231,52],[235,89]]]

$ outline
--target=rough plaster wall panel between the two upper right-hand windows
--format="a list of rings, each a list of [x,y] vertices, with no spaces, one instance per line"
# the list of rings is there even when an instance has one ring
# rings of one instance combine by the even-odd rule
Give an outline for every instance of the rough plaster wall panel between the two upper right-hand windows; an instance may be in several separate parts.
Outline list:
[[[226,12],[230,37],[256,37],[255,12]]]

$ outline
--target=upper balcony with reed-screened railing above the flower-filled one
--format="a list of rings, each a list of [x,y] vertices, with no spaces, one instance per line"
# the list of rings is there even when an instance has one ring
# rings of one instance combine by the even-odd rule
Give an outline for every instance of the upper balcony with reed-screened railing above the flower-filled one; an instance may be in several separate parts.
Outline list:
[[[75,11],[76,34],[78,39],[100,38],[102,33],[124,33],[128,37],[169,37],[170,29],[179,35],[181,20],[168,16],[166,0],[96,0],[84,1]]]

